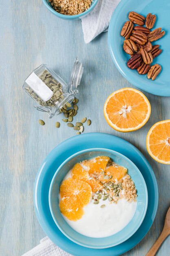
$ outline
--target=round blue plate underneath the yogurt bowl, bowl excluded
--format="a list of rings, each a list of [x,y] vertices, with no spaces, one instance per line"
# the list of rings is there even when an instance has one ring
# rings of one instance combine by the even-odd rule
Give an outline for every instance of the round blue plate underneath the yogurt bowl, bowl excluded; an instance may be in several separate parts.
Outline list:
[[[107,249],[91,249],[73,243],[57,228],[49,209],[49,187],[57,168],[74,153],[94,147],[112,149],[128,157],[141,171],[148,189],[148,209],[139,229],[124,243]],[[63,141],[46,157],[35,180],[34,206],[42,229],[53,243],[64,251],[74,256],[118,256],[137,245],[149,231],[155,219],[158,206],[157,181],[148,161],[128,141],[104,133],[86,133]]]

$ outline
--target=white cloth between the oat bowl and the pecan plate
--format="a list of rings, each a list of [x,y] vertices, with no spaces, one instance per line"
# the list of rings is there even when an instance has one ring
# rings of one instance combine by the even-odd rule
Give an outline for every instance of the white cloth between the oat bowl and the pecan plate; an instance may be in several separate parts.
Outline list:
[[[82,18],[82,29],[85,43],[91,42],[100,33],[108,30],[113,11],[120,0],[98,0],[95,8]]]

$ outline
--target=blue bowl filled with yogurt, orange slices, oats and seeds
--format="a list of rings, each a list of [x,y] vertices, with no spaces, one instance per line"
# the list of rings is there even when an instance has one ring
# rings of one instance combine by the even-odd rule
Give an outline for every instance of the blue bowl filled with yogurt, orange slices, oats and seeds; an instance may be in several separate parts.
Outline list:
[[[89,248],[113,247],[130,238],[144,220],[148,192],[139,169],[120,153],[92,148],[68,157],[49,189],[57,227]]]

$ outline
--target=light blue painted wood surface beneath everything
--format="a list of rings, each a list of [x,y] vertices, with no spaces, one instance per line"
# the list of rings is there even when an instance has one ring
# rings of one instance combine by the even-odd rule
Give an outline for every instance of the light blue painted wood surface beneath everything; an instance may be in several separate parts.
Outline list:
[[[159,186],[159,207],[154,224],[146,237],[125,256],[143,256],[163,227],[170,206],[170,166],[158,164],[148,155],[146,134],[155,122],[170,118],[170,99],[145,93],[152,113],[148,123],[132,133],[110,128],[103,116],[106,97],[130,85],[112,63],[107,33],[85,45],[81,21],[60,20],[41,0],[0,1],[0,255],[20,256],[45,236],[33,208],[33,184],[46,155],[60,142],[75,135],[62,123],[33,108],[23,91],[26,76],[38,65],[49,64],[69,81],[75,57],[84,64],[79,86],[79,112],[75,121],[88,117],[91,126],[84,132],[106,132],[134,144],[146,156],[155,171]],[[43,119],[45,126],[40,126]],[[80,135],[81,136],[81,135]],[[170,255],[170,237],[161,246],[159,256]]]

